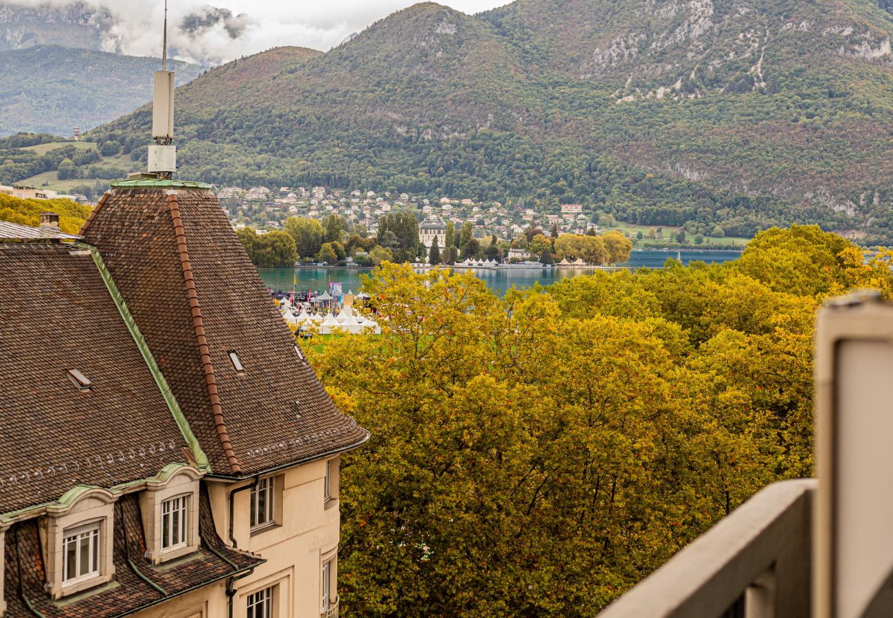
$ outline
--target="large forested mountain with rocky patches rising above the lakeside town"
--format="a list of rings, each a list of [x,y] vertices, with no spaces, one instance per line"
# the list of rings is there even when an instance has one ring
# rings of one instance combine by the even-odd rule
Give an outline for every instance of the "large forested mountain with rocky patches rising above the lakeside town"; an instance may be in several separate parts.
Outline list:
[[[881,3],[416,4],[326,54],[272,50],[179,88],[181,173],[893,241]],[[92,138],[136,149],[148,124],[141,108]]]

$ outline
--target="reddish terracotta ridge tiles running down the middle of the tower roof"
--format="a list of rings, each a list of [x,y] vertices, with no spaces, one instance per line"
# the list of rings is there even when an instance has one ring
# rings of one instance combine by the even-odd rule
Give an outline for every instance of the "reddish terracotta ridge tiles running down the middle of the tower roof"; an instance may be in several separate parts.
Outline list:
[[[208,347],[208,340],[204,336],[202,307],[199,305],[198,295],[196,294],[196,280],[192,275],[192,264],[189,263],[189,252],[186,246],[186,232],[183,230],[183,220],[179,216],[177,192],[168,191],[167,196],[168,208],[171,210],[171,220],[173,221],[173,230],[174,234],[177,236],[179,264],[183,271],[183,280],[186,283],[186,295],[188,296],[189,309],[192,313],[192,328],[196,333],[198,353],[202,357],[204,385],[208,389],[208,397],[211,399],[214,430],[217,431],[217,438],[221,441],[223,454],[226,455],[227,462],[230,464],[230,471],[235,474],[241,474],[242,466],[238,463],[236,451],[233,450],[232,442],[230,442],[230,433],[226,428],[226,423],[223,421],[223,406],[221,405],[220,395],[217,392],[217,378],[214,375],[214,366],[211,363],[211,349]]]

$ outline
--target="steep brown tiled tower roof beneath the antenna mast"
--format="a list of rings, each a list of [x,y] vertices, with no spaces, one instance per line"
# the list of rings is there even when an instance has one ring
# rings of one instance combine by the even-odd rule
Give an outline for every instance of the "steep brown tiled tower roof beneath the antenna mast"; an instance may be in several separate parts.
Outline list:
[[[113,188],[81,231],[103,255],[213,472],[263,472],[368,437],[296,354],[210,191]]]

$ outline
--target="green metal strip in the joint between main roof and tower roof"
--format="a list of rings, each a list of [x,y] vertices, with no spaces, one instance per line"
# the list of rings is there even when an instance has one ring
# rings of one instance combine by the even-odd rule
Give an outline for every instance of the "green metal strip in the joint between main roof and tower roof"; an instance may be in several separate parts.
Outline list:
[[[108,196],[108,194],[106,193],[103,196],[103,199],[102,201],[100,201],[99,205],[103,204],[105,196]],[[96,209],[99,208],[99,205],[96,205]],[[94,213],[96,212],[96,209],[94,209]],[[93,214],[91,213],[90,216],[92,217]],[[90,220],[88,219],[87,223],[89,223],[89,221]],[[86,226],[87,223],[85,223],[84,225]],[[146,367],[148,367],[149,372],[152,374],[152,377],[155,380],[155,384],[158,386],[158,390],[161,391],[162,397],[164,398],[164,403],[167,404],[168,410],[171,411],[174,422],[176,422],[177,427],[179,427],[179,432],[183,435],[183,438],[186,440],[186,443],[189,446],[190,453],[188,455],[190,455],[191,458],[195,460],[196,468],[204,470],[205,472],[211,472],[211,464],[208,462],[208,456],[204,454],[202,446],[201,444],[199,444],[198,438],[196,438],[196,434],[194,434],[192,432],[192,428],[189,427],[189,422],[186,419],[186,414],[184,414],[183,411],[180,409],[176,397],[173,396],[171,386],[167,383],[167,380],[164,379],[164,374],[162,373],[161,369],[158,368],[158,363],[155,362],[155,357],[154,355],[152,355],[152,350],[149,349],[149,345],[146,343],[146,339],[143,338],[143,333],[139,331],[137,321],[133,319],[133,315],[127,308],[127,304],[124,303],[124,297],[121,296],[121,290],[118,289],[117,284],[114,282],[112,273],[109,271],[108,266],[105,265],[103,256],[99,255],[99,251],[96,249],[95,246],[89,245],[88,243],[79,240],[73,244],[75,246],[79,246],[80,248],[87,249],[90,252],[90,255],[93,257],[93,262],[96,263],[96,269],[99,271],[99,276],[103,279],[105,288],[109,292],[109,296],[112,296],[113,303],[116,307],[118,307],[118,313],[121,313],[121,319],[127,326],[127,330],[129,330],[130,336],[133,338],[134,343],[137,344],[139,354],[143,356],[143,361],[146,363]]]

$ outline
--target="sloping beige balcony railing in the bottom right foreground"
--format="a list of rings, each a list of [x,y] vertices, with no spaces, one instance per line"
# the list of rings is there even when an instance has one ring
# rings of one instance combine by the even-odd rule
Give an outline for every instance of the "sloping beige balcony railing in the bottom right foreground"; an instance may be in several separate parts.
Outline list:
[[[813,479],[764,488],[600,616],[808,616],[815,488]]]

